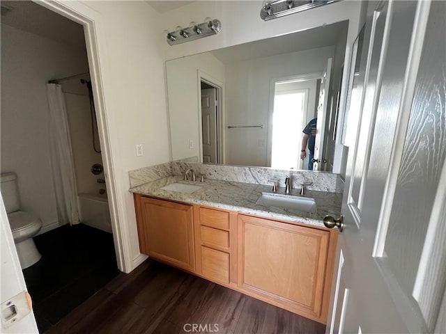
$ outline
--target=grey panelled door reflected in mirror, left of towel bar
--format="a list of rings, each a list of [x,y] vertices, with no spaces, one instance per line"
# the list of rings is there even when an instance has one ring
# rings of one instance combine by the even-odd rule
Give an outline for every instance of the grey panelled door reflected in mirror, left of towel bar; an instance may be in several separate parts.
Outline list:
[[[215,88],[201,90],[203,162],[217,163],[217,101]]]

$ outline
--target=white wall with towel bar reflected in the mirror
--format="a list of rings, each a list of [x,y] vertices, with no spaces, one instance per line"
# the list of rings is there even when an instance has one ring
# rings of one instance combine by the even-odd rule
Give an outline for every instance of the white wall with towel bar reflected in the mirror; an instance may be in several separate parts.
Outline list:
[[[263,129],[225,127],[226,164],[268,165],[272,81],[303,74],[322,74],[333,53],[334,47],[323,47],[226,65],[226,125],[263,125]],[[302,129],[290,127],[289,131],[302,132]],[[259,145],[259,141],[264,145]]]

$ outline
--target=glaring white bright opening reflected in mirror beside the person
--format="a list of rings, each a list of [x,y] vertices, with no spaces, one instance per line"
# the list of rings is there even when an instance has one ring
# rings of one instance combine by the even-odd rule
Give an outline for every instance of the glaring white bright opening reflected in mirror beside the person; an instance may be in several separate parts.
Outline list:
[[[283,84],[276,84],[272,113],[271,167],[302,169],[300,140],[307,119],[308,89],[283,90],[280,86]]]

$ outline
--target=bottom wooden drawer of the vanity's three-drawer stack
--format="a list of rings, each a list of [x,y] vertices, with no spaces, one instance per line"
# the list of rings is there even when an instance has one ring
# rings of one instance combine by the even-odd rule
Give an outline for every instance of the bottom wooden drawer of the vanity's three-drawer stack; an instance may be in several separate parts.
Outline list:
[[[210,280],[229,284],[229,254],[201,246],[201,272]]]

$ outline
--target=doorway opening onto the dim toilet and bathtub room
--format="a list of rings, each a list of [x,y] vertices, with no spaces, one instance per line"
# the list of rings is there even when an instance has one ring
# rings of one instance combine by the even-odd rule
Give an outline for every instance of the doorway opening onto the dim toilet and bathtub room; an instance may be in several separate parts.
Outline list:
[[[89,86],[95,76],[89,76],[84,26],[32,1],[1,4],[10,5],[10,12],[1,17],[1,172],[15,172],[21,208],[43,223],[34,239],[43,256],[24,269],[24,276],[40,331],[45,331],[118,273],[109,205],[99,193],[109,190],[104,169],[100,168],[99,175],[91,173],[93,164],[104,164],[102,153],[94,151],[107,151],[108,144],[101,141],[100,147],[98,143],[100,131]],[[26,17],[26,22],[20,17]],[[30,20],[49,27],[48,35],[27,30]],[[58,40],[51,32],[60,33],[63,26],[72,27],[71,35]],[[59,90],[58,100],[66,109],[65,127],[49,127],[54,118],[49,113],[47,86]],[[63,112],[62,108],[55,110],[59,116]],[[74,180],[69,219],[56,202],[58,171],[52,161],[57,159],[50,148],[59,145],[61,137],[72,144],[71,149],[63,150],[68,153],[64,157],[73,159],[73,169],[82,172],[61,177],[63,182]],[[95,198],[81,198],[93,193]],[[95,226],[95,220],[108,221],[101,228]]]

